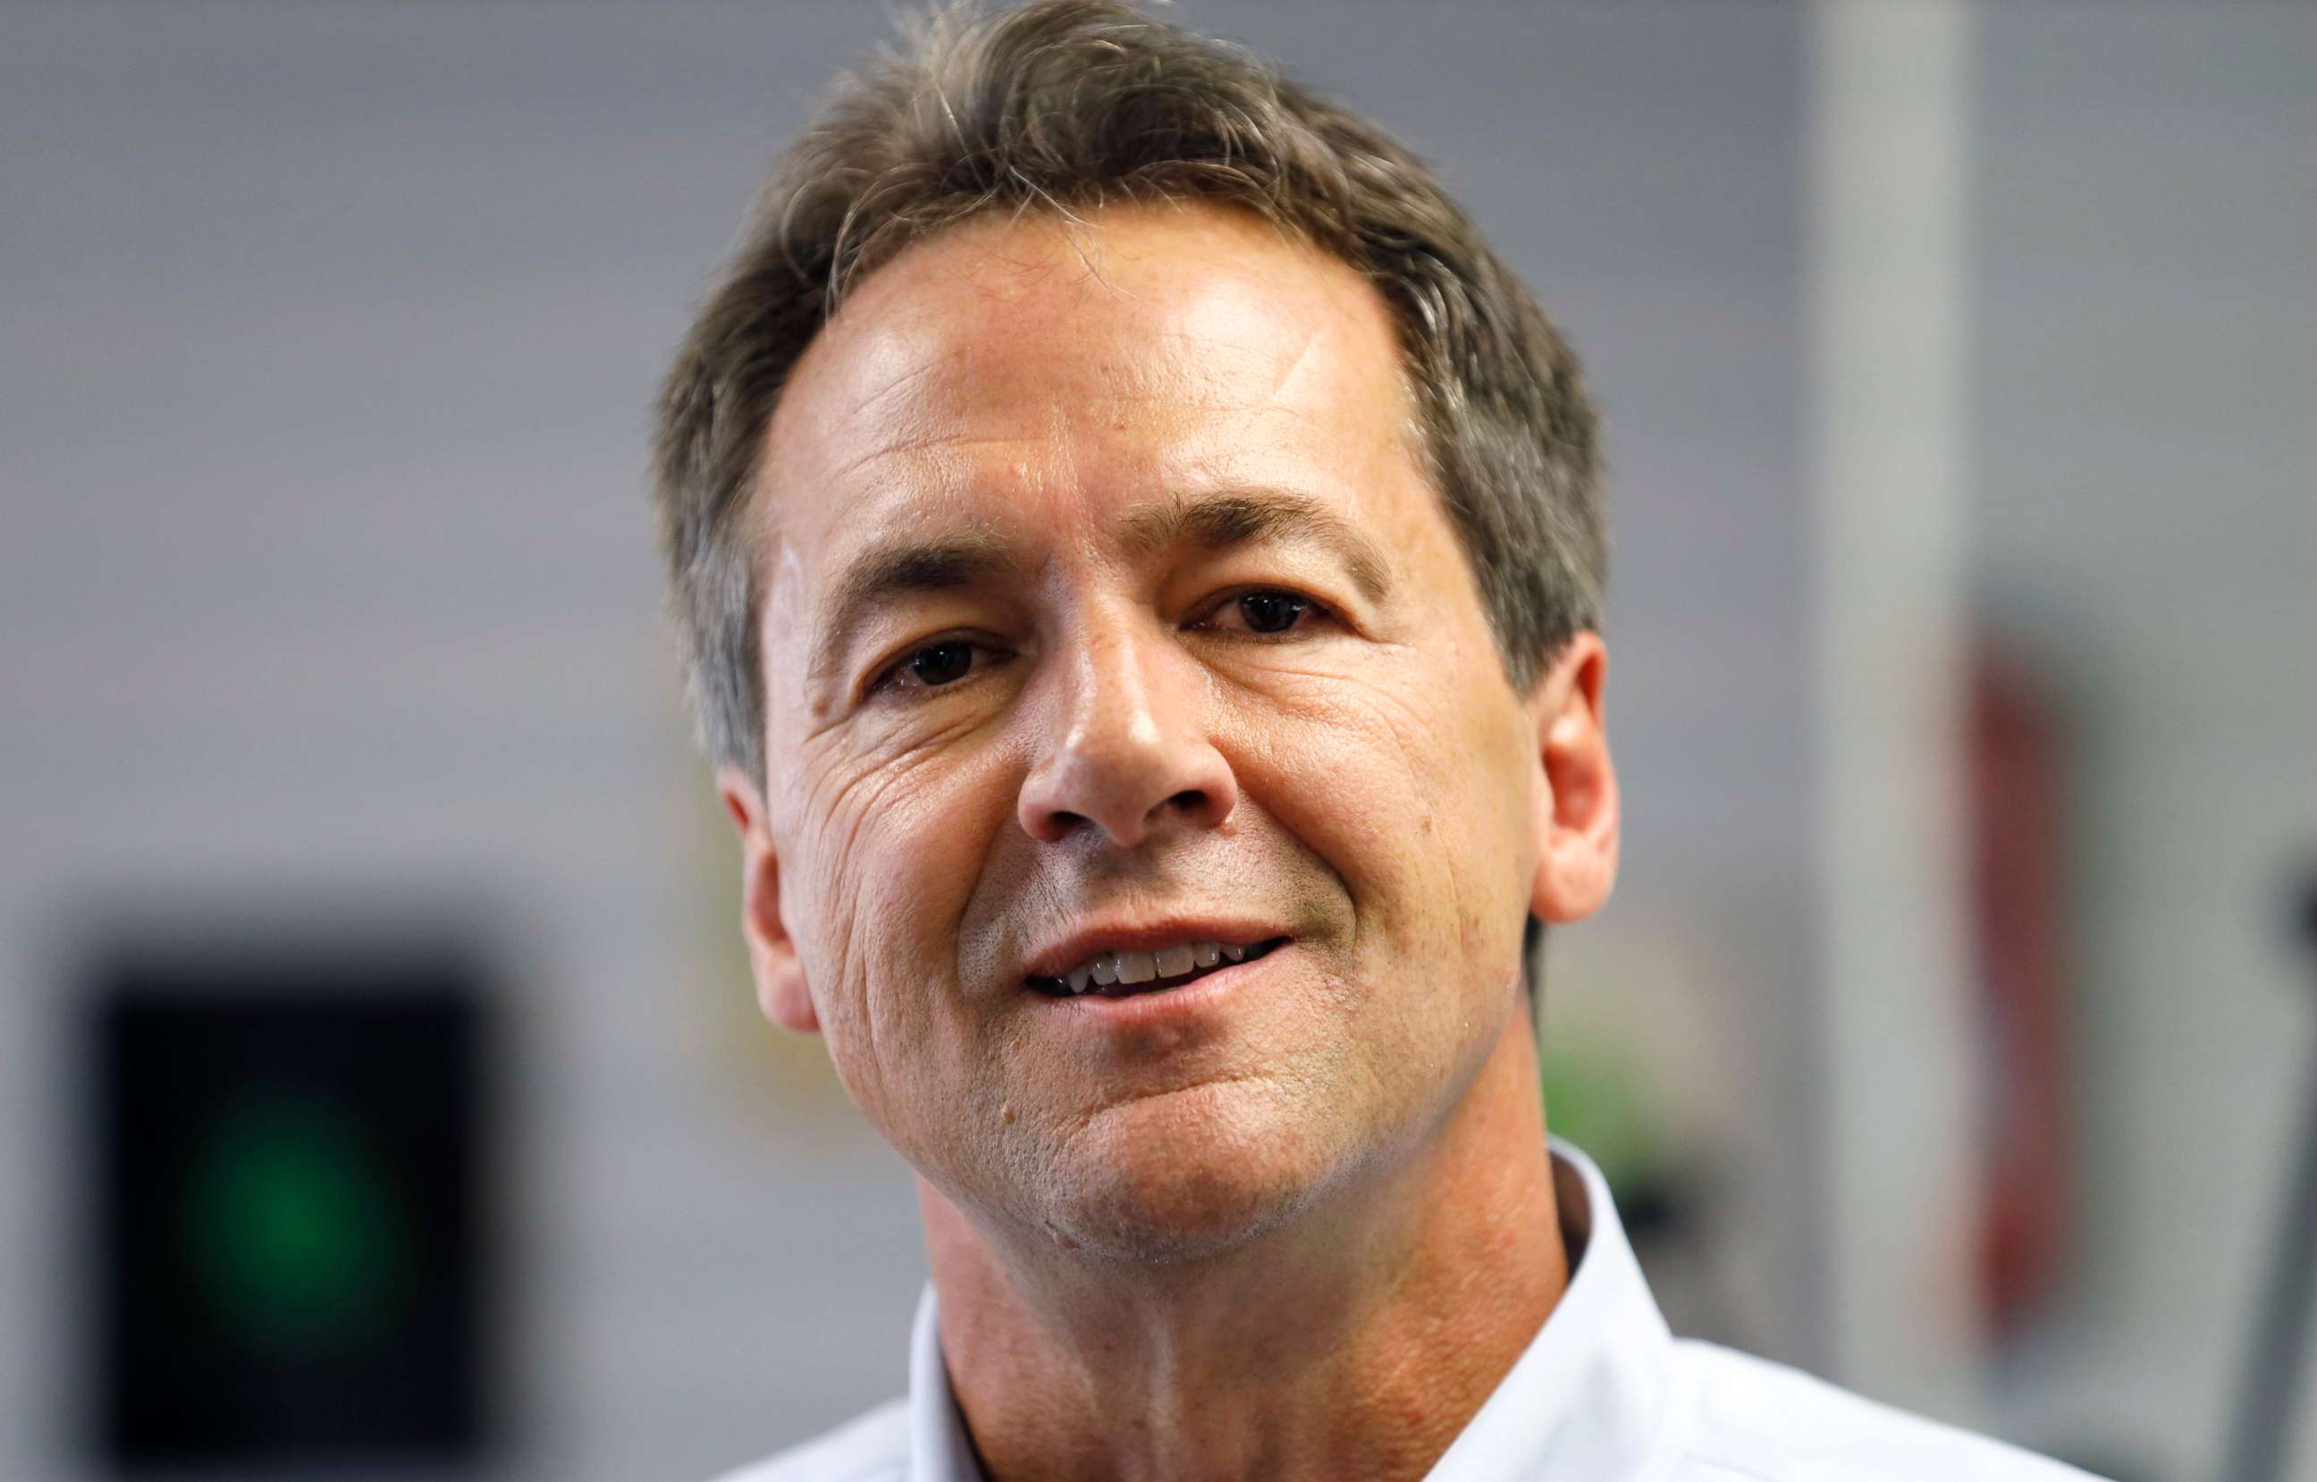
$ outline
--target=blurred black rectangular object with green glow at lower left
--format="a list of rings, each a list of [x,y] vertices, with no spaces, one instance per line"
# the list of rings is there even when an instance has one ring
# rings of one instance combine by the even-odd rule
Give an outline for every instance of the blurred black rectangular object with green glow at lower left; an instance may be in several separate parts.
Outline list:
[[[459,961],[107,973],[97,1413],[125,1468],[454,1463],[484,1436],[482,1007]]]

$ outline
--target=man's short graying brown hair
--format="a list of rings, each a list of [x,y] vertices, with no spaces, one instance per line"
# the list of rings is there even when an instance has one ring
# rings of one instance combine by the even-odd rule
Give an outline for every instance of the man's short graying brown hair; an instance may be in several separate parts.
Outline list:
[[[955,7],[839,79],[660,394],[653,502],[714,762],[765,780],[746,514],[797,357],[908,243],[989,211],[1105,201],[1253,211],[1374,283],[1513,685],[1599,628],[1606,521],[1578,361],[1416,155],[1244,49],[1114,0]]]

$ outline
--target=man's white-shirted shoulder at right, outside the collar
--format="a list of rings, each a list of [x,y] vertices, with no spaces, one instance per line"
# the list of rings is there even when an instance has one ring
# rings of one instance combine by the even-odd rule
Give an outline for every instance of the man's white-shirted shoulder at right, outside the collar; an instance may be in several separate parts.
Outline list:
[[[1715,1343],[1678,1343],[1696,1385],[1691,1463],[1715,1482],[2097,1482],[2060,1461]]]

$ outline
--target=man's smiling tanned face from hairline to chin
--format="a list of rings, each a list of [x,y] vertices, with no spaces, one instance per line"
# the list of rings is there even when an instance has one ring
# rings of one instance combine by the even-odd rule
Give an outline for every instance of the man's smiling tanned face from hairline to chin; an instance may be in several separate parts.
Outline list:
[[[1552,804],[1376,292],[1212,208],[966,225],[767,447],[769,778],[725,785],[767,1007],[880,1132],[1135,1257],[1418,1149],[1518,1012]],[[1073,993],[1108,952],[1158,977]]]

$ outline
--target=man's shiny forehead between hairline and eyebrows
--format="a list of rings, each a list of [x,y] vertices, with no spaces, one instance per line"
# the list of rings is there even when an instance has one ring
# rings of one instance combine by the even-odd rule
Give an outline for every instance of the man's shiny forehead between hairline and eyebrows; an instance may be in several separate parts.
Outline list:
[[[1267,222],[980,220],[857,285],[790,375],[758,498],[806,574],[897,523],[1057,533],[1198,486],[1358,519],[1411,472],[1409,428],[1381,296]]]

